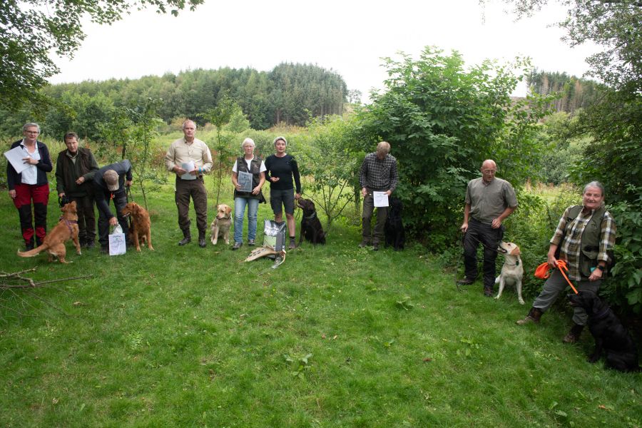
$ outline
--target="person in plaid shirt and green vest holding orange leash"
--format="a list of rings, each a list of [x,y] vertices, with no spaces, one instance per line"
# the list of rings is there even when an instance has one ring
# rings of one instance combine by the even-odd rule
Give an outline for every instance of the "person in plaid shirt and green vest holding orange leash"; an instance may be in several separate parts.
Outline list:
[[[557,267],[557,260],[565,260],[569,267],[569,280],[575,282],[577,290],[590,290],[597,294],[606,267],[615,245],[616,224],[604,207],[604,187],[597,181],[584,186],[582,205],[566,208],[564,215],[551,238],[549,253],[546,255],[550,267]],[[544,289],[533,302],[529,315],[517,324],[539,322],[541,315],[551,307],[560,292],[568,284],[559,269],[554,269],[544,283]],[[588,315],[582,307],[574,307],[571,331],[564,337],[565,343],[574,343],[584,330]]]

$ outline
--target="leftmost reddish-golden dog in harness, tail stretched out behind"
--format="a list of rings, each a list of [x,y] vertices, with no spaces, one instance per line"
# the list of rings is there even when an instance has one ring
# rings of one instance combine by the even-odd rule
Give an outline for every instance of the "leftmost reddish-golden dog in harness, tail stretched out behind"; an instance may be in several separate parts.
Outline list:
[[[80,249],[80,242],[78,242],[78,213],[76,211],[76,201],[68,203],[61,208],[63,215],[58,224],[51,229],[44,240],[42,245],[30,251],[22,253],[18,251],[20,257],[34,257],[42,251],[49,253],[49,261],[54,260],[54,255],[60,260],[60,263],[71,263],[65,260],[67,250],[65,248],[66,240],[73,240],[73,245],[76,245],[76,253],[82,254]]]

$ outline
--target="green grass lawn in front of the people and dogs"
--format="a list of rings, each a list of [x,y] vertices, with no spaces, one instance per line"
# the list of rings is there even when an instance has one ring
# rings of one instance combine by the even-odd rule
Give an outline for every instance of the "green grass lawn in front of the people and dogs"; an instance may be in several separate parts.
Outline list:
[[[374,253],[341,225],[275,270],[242,263],[246,245],[176,245],[169,187],[150,208],[156,251],[78,256],[68,244],[73,263],[50,264],[16,256],[18,215],[3,193],[0,270],[91,277],[0,291],[1,426],[642,424],[642,374],[586,362],[586,333],[564,345],[561,306],[517,326],[532,298],[488,299],[479,282],[459,292],[423,248]],[[260,226],[270,214],[261,205]]]

